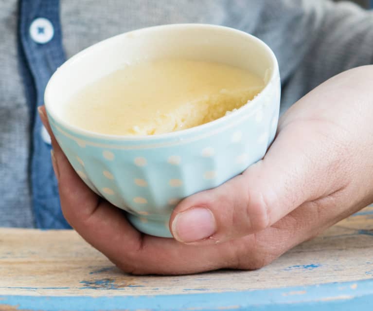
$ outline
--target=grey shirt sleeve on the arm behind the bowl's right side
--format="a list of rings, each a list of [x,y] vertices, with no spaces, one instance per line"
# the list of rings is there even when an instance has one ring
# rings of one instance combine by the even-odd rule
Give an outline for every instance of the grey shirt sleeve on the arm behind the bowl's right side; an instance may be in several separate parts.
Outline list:
[[[264,40],[276,54],[282,110],[333,75],[372,63],[373,11],[331,0],[243,0],[238,9],[243,12],[247,5],[250,12],[254,2],[259,14],[242,13],[236,26]]]

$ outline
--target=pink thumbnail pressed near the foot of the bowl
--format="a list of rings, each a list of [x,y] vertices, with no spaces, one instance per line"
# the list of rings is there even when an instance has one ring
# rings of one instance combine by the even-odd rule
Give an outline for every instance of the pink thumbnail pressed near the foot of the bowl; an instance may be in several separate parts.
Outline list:
[[[188,243],[212,236],[216,231],[216,223],[209,209],[195,207],[178,214],[171,229],[178,241]]]

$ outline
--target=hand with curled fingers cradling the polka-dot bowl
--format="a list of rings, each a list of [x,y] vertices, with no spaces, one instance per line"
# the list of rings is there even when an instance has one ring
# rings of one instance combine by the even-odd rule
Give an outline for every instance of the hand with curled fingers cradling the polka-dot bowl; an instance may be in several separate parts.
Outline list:
[[[63,213],[125,272],[257,269],[373,201],[373,67],[341,73],[281,118],[265,158],[175,208],[176,239],[144,235],[81,181],[52,136]]]

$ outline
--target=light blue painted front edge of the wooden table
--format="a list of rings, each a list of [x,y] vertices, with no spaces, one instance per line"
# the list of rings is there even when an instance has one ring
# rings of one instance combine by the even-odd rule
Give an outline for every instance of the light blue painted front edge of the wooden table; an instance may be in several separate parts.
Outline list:
[[[373,279],[241,292],[141,296],[0,295],[1,306],[30,311],[372,310]],[[7,310],[7,309],[5,309]]]

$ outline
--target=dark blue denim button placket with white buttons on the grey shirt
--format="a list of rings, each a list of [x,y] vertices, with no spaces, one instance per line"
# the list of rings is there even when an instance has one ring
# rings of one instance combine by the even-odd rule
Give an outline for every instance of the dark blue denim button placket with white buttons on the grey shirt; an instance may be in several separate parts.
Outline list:
[[[19,0],[18,53],[31,119],[29,175],[36,227],[68,228],[51,164],[50,137],[37,114],[49,78],[65,61],[59,0]]]

